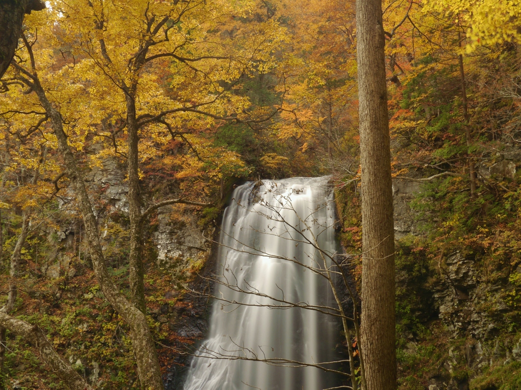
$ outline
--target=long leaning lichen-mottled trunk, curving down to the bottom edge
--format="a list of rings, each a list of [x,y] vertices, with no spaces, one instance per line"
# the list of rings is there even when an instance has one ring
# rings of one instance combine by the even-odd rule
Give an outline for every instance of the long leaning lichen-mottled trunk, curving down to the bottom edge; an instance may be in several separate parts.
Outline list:
[[[137,361],[141,387],[146,390],[163,389],[164,386],[157,351],[146,316],[140,309],[127,300],[108,274],[100,242],[100,234],[96,225],[96,218],[92,211],[92,205],[85,188],[83,176],[67,143],[67,135],[63,129],[61,115],[47,99],[39,81],[37,79],[34,81],[34,91],[38,95],[47,115],[51,118],[59,151],[63,154],[68,177],[75,188],[78,206],[83,216],[85,236],[89,244],[96,280],[100,284],[107,301],[118,311],[130,327],[130,339],[132,340],[132,347]]]

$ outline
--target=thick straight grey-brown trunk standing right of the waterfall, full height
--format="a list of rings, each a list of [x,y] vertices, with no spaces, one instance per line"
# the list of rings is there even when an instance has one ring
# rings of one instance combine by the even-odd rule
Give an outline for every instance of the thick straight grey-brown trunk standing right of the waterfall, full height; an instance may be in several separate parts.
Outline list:
[[[381,0],[356,1],[367,389],[396,388],[394,227]]]

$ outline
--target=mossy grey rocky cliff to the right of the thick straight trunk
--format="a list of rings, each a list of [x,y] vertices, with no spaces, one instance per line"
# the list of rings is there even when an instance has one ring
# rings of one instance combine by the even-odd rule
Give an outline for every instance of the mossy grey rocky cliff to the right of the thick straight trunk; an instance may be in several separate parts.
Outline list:
[[[484,177],[514,180],[516,165],[503,160],[480,170]],[[499,243],[504,225],[474,245],[463,239],[433,243],[429,229],[440,218],[418,211],[423,189],[414,180],[393,183],[400,388],[521,388],[516,244]]]

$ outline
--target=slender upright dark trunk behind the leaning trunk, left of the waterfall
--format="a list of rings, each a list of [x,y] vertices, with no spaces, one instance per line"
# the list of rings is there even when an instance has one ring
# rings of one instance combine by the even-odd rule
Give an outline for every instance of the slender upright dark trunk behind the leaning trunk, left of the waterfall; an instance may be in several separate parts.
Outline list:
[[[130,299],[135,307],[146,313],[141,224],[142,199],[139,188],[138,123],[135,116],[134,96],[127,93],[126,100],[128,130],[127,173],[129,183],[127,200],[129,202],[130,218]]]

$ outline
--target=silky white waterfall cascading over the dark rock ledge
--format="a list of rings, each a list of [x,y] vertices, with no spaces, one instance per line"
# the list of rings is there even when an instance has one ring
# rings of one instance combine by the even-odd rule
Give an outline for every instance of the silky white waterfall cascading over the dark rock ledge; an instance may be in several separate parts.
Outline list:
[[[246,183],[234,190],[222,221],[209,334],[184,390],[320,390],[341,384],[335,373],[280,367],[295,363],[278,360],[341,359],[340,321],[287,304],[336,307],[327,279],[305,267],[325,271],[324,257],[306,240],[336,253],[331,192],[327,177],[266,180],[258,188]]]

